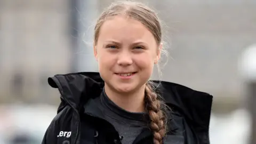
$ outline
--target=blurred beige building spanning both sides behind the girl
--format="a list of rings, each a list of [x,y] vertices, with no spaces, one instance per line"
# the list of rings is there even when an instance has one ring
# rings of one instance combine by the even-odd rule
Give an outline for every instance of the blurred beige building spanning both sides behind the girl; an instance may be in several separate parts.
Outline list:
[[[47,85],[47,77],[94,71],[93,24],[110,2],[1,0],[1,102],[52,102],[59,99],[58,92]],[[244,97],[237,62],[245,47],[256,43],[256,2],[142,2],[153,6],[164,22],[170,57],[162,79],[209,92],[215,105],[237,106]]]

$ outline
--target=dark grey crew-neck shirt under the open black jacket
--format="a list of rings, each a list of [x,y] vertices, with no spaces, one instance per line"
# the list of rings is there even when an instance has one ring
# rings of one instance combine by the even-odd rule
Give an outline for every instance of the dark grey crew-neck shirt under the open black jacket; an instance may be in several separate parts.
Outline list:
[[[123,144],[131,144],[141,130],[147,127],[146,113],[131,113],[118,107],[107,97],[105,91],[96,101],[104,110],[105,119],[113,124],[119,135],[123,137]]]

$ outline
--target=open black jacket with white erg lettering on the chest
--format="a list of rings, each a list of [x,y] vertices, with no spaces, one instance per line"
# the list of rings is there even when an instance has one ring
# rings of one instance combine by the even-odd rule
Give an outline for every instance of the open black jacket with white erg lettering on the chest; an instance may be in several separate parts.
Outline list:
[[[104,86],[99,73],[55,75],[48,82],[60,91],[61,103],[45,132],[43,144],[122,143],[114,126],[99,118],[103,113],[93,101],[99,97]],[[153,82],[158,84],[158,81]],[[157,92],[172,109],[164,143],[210,143],[212,95],[163,81]],[[148,129],[142,130],[134,141],[152,142],[153,135]]]

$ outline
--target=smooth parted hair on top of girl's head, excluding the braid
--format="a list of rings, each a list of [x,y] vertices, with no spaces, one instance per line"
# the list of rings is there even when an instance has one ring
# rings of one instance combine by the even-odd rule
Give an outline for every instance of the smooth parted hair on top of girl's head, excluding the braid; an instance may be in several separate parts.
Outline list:
[[[154,35],[156,42],[158,44],[161,43],[162,31],[156,13],[148,6],[139,2],[119,1],[112,3],[109,7],[107,7],[107,9],[101,13],[100,18],[97,20],[97,23],[94,27],[95,44],[98,42],[100,27],[102,26],[103,22],[116,15],[123,15],[140,21]]]

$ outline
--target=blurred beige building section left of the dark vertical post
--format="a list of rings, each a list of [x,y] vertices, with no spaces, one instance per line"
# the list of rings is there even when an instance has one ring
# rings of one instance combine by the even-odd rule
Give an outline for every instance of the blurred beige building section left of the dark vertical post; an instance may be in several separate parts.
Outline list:
[[[69,1],[0,1],[1,102],[47,102],[47,77],[69,71],[69,6]]]

